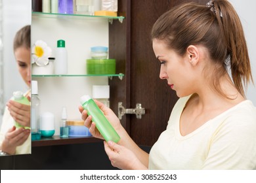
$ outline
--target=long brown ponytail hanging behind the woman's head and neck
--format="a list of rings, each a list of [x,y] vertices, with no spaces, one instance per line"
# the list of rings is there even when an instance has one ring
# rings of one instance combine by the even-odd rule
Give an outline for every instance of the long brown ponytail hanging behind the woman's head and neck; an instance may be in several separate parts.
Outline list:
[[[244,31],[238,14],[226,0],[213,1],[218,23],[223,31],[232,80],[237,90],[245,96],[244,88],[253,77]]]

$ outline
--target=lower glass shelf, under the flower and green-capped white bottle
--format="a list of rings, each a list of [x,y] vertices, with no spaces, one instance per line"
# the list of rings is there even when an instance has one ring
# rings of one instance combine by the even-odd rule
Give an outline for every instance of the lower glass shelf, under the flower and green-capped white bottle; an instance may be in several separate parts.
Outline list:
[[[112,79],[112,77],[118,77],[120,80],[123,79],[123,75],[122,73],[118,74],[118,75],[32,75],[32,77],[88,77],[88,76],[108,76],[110,77],[110,79]]]

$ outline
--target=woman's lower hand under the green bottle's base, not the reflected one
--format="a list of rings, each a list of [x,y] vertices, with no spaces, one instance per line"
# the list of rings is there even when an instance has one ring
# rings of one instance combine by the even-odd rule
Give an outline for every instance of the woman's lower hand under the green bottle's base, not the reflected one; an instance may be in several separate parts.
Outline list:
[[[127,170],[147,169],[135,154],[124,146],[120,146],[112,141],[104,141],[104,148],[114,167]]]

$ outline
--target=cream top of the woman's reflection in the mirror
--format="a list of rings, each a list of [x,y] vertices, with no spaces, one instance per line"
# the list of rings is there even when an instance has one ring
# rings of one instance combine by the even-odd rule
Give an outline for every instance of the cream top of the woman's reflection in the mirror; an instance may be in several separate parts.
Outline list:
[[[30,91],[26,92],[25,95],[28,95]],[[15,121],[12,118],[9,110],[5,107],[5,113],[3,114],[3,122],[0,129],[0,145],[2,144],[3,140],[5,139],[5,133],[9,129],[11,129],[15,125]],[[28,136],[28,139],[20,146],[16,147],[15,154],[31,154],[31,134]]]

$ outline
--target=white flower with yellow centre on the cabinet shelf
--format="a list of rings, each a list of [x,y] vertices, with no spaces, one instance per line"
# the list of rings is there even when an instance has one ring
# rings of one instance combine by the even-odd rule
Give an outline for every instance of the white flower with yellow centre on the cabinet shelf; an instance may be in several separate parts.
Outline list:
[[[52,54],[52,50],[44,41],[35,41],[32,48],[32,63],[36,63],[39,66],[45,66],[49,63],[49,57]]]

